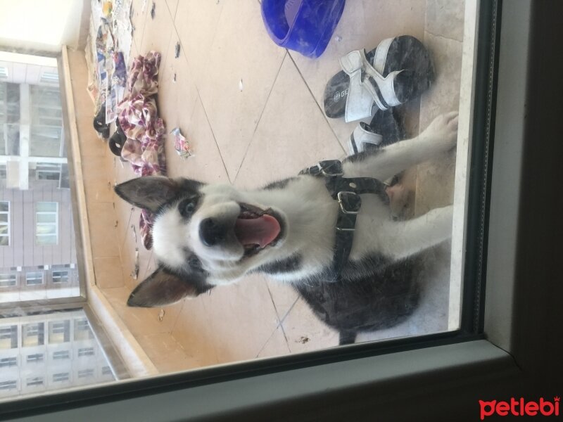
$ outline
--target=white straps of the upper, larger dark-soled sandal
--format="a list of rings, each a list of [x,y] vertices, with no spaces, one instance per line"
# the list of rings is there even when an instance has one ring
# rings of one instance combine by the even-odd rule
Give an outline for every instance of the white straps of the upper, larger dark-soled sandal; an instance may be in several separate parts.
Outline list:
[[[400,104],[393,80],[402,70],[390,72],[387,77],[383,77],[369,63],[365,50],[350,51],[340,59],[340,64],[350,78],[344,116],[346,122],[372,115],[373,103],[380,110]]]

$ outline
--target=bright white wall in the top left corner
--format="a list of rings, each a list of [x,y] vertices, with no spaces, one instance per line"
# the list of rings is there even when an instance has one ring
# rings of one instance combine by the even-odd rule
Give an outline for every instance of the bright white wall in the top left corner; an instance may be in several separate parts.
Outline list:
[[[0,0],[0,47],[58,52],[76,48],[89,0]]]

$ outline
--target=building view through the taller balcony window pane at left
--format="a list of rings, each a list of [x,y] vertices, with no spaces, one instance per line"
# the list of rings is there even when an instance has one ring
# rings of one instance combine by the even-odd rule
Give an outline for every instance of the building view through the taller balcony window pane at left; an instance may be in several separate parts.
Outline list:
[[[0,68],[0,303],[80,295],[56,60]]]

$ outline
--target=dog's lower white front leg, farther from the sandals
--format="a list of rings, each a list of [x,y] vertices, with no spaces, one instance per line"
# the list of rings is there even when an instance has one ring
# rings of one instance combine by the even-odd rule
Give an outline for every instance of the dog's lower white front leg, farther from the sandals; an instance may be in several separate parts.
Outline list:
[[[393,260],[402,260],[438,245],[452,235],[452,215],[453,207],[448,205],[415,219],[393,222],[386,226],[382,252]]]

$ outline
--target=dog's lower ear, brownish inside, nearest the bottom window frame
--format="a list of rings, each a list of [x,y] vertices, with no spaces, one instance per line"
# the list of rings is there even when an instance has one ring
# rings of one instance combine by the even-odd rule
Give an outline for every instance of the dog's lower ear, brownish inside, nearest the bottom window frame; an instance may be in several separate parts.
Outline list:
[[[186,296],[196,297],[201,295],[212,287],[205,281],[198,279],[197,275],[194,275],[191,281],[184,280],[163,267],[158,267],[153,274],[134,288],[127,300],[127,306],[157,307],[170,305]]]

